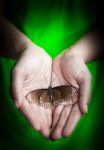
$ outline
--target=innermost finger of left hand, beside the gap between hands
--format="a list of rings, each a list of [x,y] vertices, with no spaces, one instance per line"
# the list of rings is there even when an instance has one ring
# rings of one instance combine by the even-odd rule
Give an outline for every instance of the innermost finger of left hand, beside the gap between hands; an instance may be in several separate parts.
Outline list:
[[[45,108],[42,106],[38,106],[38,107],[39,107],[40,121],[41,121],[40,132],[45,138],[48,138],[49,137],[49,125],[48,125],[48,120],[47,120],[47,116],[45,113]]]

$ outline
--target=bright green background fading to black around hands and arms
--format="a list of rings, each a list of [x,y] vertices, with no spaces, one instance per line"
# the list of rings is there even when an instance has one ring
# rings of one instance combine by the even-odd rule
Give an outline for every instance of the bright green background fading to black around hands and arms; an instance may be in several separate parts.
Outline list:
[[[97,21],[97,3],[83,0],[9,0],[5,16],[52,57],[90,31]],[[66,139],[45,140],[34,131],[9,96],[10,74],[15,61],[0,58],[0,150],[103,149],[104,62],[87,64],[92,74],[89,112]]]

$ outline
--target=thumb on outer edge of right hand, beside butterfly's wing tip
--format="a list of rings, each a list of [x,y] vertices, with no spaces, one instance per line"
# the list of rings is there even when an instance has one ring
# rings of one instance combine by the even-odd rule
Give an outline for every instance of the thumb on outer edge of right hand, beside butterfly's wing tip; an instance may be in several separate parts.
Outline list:
[[[90,99],[90,90],[91,90],[91,78],[84,77],[79,81],[80,94],[79,94],[79,106],[82,113],[87,113],[87,104]]]

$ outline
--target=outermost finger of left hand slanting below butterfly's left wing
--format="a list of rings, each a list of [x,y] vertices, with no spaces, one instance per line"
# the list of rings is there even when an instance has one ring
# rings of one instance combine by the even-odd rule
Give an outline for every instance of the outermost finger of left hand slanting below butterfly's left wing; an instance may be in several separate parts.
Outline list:
[[[20,112],[26,117],[26,119],[29,121],[29,123],[32,125],[32,127],[39,131],[40,130],[40,123],[38,121],[38,118],[36,114],[31,109],[29,103],[25,100],[25,102],[20,106],[19,108]]]

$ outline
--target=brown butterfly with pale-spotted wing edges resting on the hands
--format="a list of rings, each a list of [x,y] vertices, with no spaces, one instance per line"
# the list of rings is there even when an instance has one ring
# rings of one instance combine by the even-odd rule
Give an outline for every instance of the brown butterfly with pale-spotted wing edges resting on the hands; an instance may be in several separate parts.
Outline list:
[[[78,89],[68,85],[37,89],[27,94],[26,99],[29,103],[37,103],[45,108],[51,108],[63,102],[72,105],[78,100]]]

